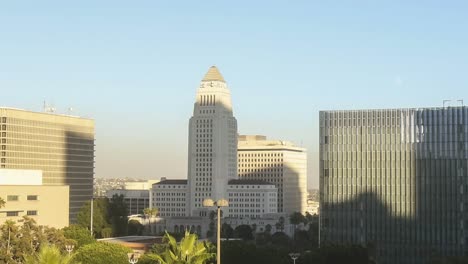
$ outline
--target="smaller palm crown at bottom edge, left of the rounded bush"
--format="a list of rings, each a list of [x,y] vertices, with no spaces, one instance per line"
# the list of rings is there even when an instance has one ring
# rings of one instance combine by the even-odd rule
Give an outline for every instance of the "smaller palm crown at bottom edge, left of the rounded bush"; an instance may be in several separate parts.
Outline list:
[[[25,264],[78,264],[73,261],[73,255],[62,255],[54,245],[42,246],[39,253],[28,256]]]

